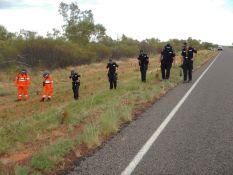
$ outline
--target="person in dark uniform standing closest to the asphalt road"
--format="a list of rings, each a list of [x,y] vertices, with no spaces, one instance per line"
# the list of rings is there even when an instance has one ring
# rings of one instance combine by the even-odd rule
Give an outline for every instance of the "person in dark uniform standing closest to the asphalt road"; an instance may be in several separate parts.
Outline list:
[[[187,43],[184,43],[181,55],[183,57],[183,75],[184,75],[184,83],[187,82],[187,75],[188,75],[188,82],[192,81],[192,71],[193,71],[193,58],[194,54],[197,54],[197,50],[192,48],[191,46],[187,46]]]

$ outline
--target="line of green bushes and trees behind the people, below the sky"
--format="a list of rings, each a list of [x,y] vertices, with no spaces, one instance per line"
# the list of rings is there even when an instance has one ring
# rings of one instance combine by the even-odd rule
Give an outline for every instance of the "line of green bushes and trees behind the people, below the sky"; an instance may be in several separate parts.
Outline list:
[[[46,36],[24,29],[12,33],[0,25],[0,68],[17,65],[63,68],[98,62],[110,57],[136,57],[140,49],[153,55],[160,53],[167,42],[175,51],[180,51],[185,41],[198,50],[217,47],[215,44],[192,38],[169,41],[150,38],[138,41],[122,35],[114,40],[106,34],[106,28],[102,24],[95,23],[91,10],[82,11],[76,2],[62,2],[58,11],[64,21],[62,31],[53,29]]]

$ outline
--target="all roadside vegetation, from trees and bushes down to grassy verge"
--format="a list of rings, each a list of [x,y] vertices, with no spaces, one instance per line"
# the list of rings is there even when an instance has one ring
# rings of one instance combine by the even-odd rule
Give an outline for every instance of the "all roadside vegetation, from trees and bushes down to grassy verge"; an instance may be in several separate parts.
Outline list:
[[[96,24],[91,11],[61,3],[63,30],[47,36],[28,30],[9,32],[0,25],[0,175],[45,175],[106,142],[144,109],[178,85],[183,42],[197,48],[195,68],[216,56],[217,45],[188,38],[138,41],[122,35],[114,40]],[[170,81],[160,81],[159,53],[169,42],[177,53]],[[147,83],[140,82],[137,55],[150,56]],[[108,58],[119,64],[117,90],[108,89]],[[31,77],[28,101],[16,102],[16,71]],[[81,74],[81,98],[72,97],[70,71]],[[40,103],[42,72],[54,79],[51,102]]]

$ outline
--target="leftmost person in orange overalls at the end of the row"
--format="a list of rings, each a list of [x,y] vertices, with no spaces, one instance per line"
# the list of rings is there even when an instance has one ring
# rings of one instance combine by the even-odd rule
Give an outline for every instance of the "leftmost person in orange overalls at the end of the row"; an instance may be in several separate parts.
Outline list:
[[[22,95],[24,94],[24,99],[28,99],[28,87],[30,85],[30,77],[27,70],[23,69],[17,73],[15,78],[15,84],[18,88],[18,101],[22,100]]]

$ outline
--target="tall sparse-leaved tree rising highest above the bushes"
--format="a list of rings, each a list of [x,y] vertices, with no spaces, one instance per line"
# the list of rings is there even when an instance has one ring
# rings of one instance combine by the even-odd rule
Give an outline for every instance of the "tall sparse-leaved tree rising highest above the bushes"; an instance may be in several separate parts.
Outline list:
[[[59,13],[65,24],[63,30],[65,36],[72,42],[87,44],[90,40],[100,41],[106,35],[103,25],[94,23],[91,10],[81,11],[76,2],[60,3]]]

